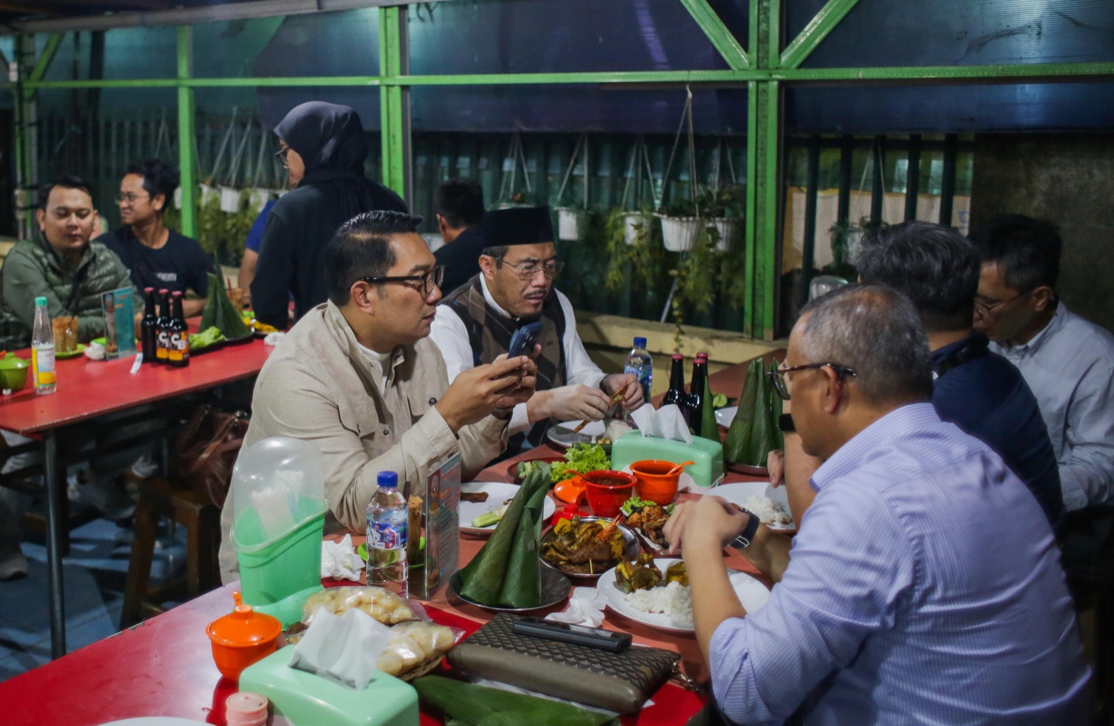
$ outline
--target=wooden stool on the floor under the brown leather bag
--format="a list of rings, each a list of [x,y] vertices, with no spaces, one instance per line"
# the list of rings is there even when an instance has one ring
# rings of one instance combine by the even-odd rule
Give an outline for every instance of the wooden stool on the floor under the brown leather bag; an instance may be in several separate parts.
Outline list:
[[[150,565],[160,516],[186,527],[186,574],[149,589]],[[221,510],[193,490],[178,490],[162,477],[146,480],[139,487],[135,539],[124,587],[120,629],[165,611],[160,603],[184,600],[221,584],[217,551],[221,546]]]

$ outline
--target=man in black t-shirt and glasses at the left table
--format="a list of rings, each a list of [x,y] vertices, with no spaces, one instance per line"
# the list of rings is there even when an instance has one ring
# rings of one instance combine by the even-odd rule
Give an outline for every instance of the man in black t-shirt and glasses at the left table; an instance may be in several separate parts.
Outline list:
[[[201,296],[199,300],[183,300],[183,312],[189,318],[205,308],[213,261],[197,240],[163,224],[163,213],[177,186],[177,172],[158,159],[129,164],[116,195],[124,226],[97,241],[120,256],[139,290],[166,288],[185,293],[192,289]]]

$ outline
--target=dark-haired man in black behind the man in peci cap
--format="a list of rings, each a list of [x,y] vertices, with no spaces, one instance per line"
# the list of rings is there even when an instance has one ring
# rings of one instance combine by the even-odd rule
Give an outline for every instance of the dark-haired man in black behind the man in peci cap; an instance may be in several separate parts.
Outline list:
[[[444,265],[448,294],[480,273],[483,254],[483,188],[475,180],[450,180],[437,190],[437,225],[444,246],[433,253]]]

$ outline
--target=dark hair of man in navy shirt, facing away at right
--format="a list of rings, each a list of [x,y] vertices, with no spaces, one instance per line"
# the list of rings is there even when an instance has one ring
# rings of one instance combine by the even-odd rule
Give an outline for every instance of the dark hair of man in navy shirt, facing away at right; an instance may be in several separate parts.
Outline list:
[[[969,330],[978,290],[975,246],[954,229],[902,222],[870,229],[854,267],[863,282],[902,293],[929,330]]]

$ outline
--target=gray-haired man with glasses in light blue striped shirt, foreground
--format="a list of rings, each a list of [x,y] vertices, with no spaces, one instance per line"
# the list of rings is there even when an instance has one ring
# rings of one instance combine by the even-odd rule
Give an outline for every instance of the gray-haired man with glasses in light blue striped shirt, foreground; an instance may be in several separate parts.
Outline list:
[[[711,495],[666,526],[723,714],[1085,724],[1089,674],[1052,529],[994,452],[940,422],[909,301],[879,285],[813,301],[775,385],[802,448],[824,459],[797,536]],[[731,588],[729,543],[775,582],[755,613]]]

